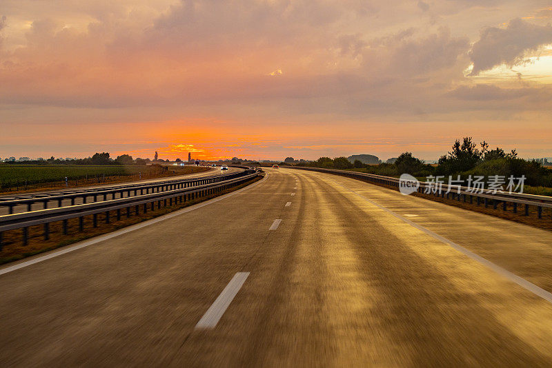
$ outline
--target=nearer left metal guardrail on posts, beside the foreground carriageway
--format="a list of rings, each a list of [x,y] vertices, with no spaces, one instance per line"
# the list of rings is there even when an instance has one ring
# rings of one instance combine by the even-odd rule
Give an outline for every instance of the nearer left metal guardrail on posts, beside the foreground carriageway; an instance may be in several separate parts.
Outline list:
[[[245,181],[249,181],[259,174],[257,170],[245,170],[236,174],[218,176],[219,180],[202,183],[196,186],[180,186],[165,192],[152,192],[148,194],[139,194],[137,196],[116,198],[107,201],[95,203],[83,203],[80,205],[71,205],[66,207],[57,207],[50,209],[39,209],[37,211],[22,212],[19,214],[8,214],[0,216],[0,250],[2,249],[2,233],[13,229],[23,229],[23,245],[28,243],[28,227],[33,225],[44,225],[44,240],[50,236],[49,224],[57,221],[63,221],[63,234],[68,234],[68,220],[70,218],[79,218],[79,231],[83,231],[84,216],[92,215],[92,226],[97,227],[97,215],[104,213],[106,223],[110,223],[110,212],[117,211],[117,220],[121,219],[121,209],[126,209],[126,217],[130,217],[131,208],[134,207],[135,214],[139,214],[140,207],[142,212],[147,213],[148,207],[151,210],[161,208],[161,201],[166,207],[167,201],[172,206],[175,203],[184,203],[194,200],[201,196],[208,196],[216,192],[221,192],[230,187],[235,187]],[[206,180],[202,178],[201,180]]]

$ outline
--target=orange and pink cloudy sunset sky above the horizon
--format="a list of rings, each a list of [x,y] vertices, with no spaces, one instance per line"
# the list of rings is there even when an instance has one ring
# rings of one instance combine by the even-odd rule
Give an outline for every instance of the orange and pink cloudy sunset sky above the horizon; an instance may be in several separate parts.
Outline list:
[[[2,0],[0,157],[552,156],[552,2]]]

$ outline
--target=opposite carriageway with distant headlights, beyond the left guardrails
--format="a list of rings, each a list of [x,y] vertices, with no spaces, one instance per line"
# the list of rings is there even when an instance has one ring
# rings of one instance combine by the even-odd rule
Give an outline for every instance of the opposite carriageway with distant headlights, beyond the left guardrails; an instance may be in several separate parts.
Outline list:
[[[87,186],[87,187],[74,187],[74,188],[69,188],[69,190],[99,189],[99,188],[103,188],[103,187],[112,187],[112,186],[115,186],[115,185],[119,186],[119,185],[157,183],[157,182],[160,182],[160,181],[177,181],[177,180],[188,179],[188,178],[190,178],[190,179],[191,178],[199,178],[201,176],[216,176],[216,175],[221,175],[221,174],[230,174],[230,173],[239,172],[239,171],[242,171],[242,169],[239,169],[237,167],[228,167],[228,171],[221,172],[220,167],[216,167],[216,168],[204,171],[204,172],[196,172],[194,174],[186,174],[186,175],[179,175],[179,176],[168,176],[168,177],[164,177],[164,178],[151,178],[151,179],[144,179],[143,181],[129,181],[129,182],[121,182],[121,183],[110,183],[110,184],[104,184],[104,185],[94,185],[94,186]],[[63,190],[58,189],[58,190],[48,190],[48,191],[44,191],[44,192],[32,192],[32,194],[59,193],[59,192],[63,192]],[[18,194],[18,195],[14,195],[14,196],[25,196],[25,194]],[[2,196],[2,198],[10,198],[10,197],[12,197],[12,196]],[[120,198],[119,194],[116,194],[115,198]],[[77,204],[77,205],[80,205],[82,203],[83,203],[82,198],[77,198],[75,200],[75,204]],[[64,200],[64,201],[61,202],[62,206],[67,206],[67,205],[70,205],[70,204],[71,204],[70,199],[67,199],[67,200]],[[48,206],[49,206],[48,208],[57,207],[57,203],[55,201],[52,201],[51,203],[48,204]],[[40,202],[34,203],[31,206],[32,210],[38,210],[38,209],[43,209],[43,208],[44,208],[43,203],[40,203]],[[27,205],[19,205],[19,206],[13,207],[13,213],[14,214],[17,214],[17,213],[20,213],[20,212],[27,212]],[[0,216],[6,215],[6,214],[9,214],[8,207],[0,206]]]

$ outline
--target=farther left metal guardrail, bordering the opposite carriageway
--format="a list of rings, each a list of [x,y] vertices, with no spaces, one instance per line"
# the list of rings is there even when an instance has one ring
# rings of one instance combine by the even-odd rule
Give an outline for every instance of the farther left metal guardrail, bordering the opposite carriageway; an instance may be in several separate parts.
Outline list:
[[[226,174],[226,175],[212,175],[201,176],[199,178],[184,178],[168,181],[157,181],[153,183],[132,183],[127,185],[111,185],[108,187],[88,188],[86,190],[69,190],[59,191],[52,193],[38,193],[38,194],[21,194],[17,197],[4,197],[0,198],[0,207],[8,207],[9,214],[14,213],[14,207],[26,205],[27,212],[32,211],[32,205],[35,203],[43,203],[43,209],[47,209],[51,202],[57,203],[57,207],[62,207],[63,201],[70,200],[71,205],[75,205],[75,201],[81,198],[83,203],[88,201],[88,198],[92,197],[92,202],[97,202],[98,197],[102,196],[102,201],[107,201],[108,196],[111,199],[124,198],[124,194],[127,197],[137,196],[139,194],[149,194],[150,192],[166,192],[177,188],[192,187],[195,185],[204,185],[209,183],[217,183],[223,179],[221,178],[233,178],[239,173]],[[139,193],[139,194],[138,194]]]

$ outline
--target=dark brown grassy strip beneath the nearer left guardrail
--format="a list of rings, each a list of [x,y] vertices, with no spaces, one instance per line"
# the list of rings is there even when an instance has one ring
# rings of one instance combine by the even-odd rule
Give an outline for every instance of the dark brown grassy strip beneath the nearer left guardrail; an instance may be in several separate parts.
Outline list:
[[[77,243],[94,236],[99,236],[101,234],[106,234],[108,232],[113,232],[117,229],[127,227],[129,225],[134,225],[136,223],[141,223],[142,221],[147,221],[152,218],[168,214],[169,212],[182,209],[184,207],[189,207],[190,205],[195,205],[200,202],[207,201],[208,199],[221,196],[223,194],[228,194],[239,190],[247,185],[255,183],[262,179],[262,176],[257,176],[247,183],[243,183],[237,187],[233,187],[228,190],[216,194],[210,194],[209,196],[204,196],[201,198],[194,199],[192,201],[186,201],[184,203],[170,205],[161,205],[161,208],[158,209],[157,205],[155,209],[149,209],[146,214],[140,212],[136,215],[132,212],[132,216],[127,218],[126,216],[121,216],[121,220],[116,221],[116,212],[110,212],[110,223],[106,223],[106,214],[98,214],[98,226],[93,227],[92,225],[92,216],[86,216],[84,218],[84,227],[83,232],[79,232],[79,220],[78,218],[72,218],[68,221],[68,234],[63,234],[63,227],[61,221],[57,223],[50,223],[50,239],[45,241],[43,238],[43,225],[35,225],[28,228],[28,245],[23,245],[21,241],[21,229],[9,230],[3,233],[2,244],[3,249],[0,251],[0,265],[3,263],[9,263],[14,260],[19,260],[26,258],[28,256],[34,256],[42,252],[48,252],[52,249],[63,247],[65,245],[70,245],[72,243]]]

